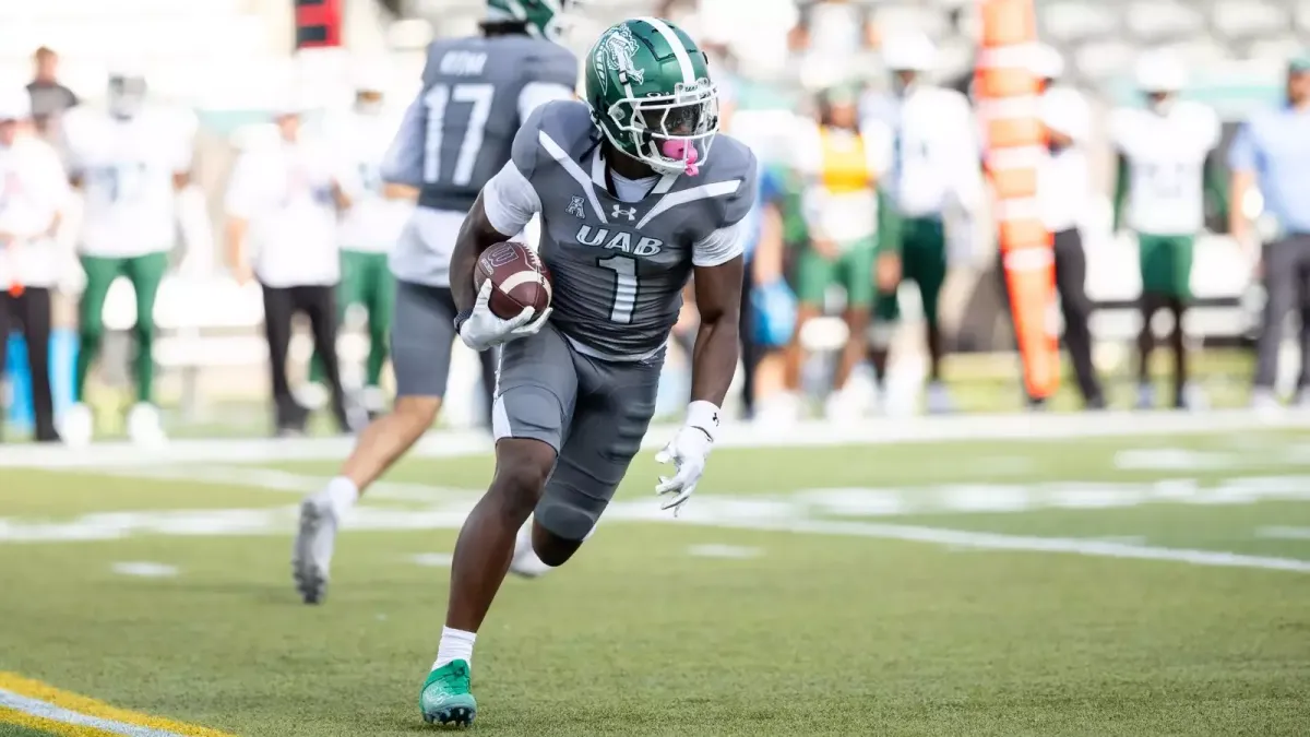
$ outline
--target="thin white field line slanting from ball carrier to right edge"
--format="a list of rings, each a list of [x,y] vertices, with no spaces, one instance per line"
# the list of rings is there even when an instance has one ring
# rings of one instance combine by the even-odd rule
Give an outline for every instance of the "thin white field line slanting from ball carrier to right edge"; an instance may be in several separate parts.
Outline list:
[[[1110,540],[1077,538],[1030,538],[1023,535],[1001,535],[996,532],[971,532],[943,527],[916,527],[909,525],[878,525],[871,522],[827,522],[815,519],[796,521],[752,521],[734,523],[715,521],[711,527],[738,527],[745,530],[770,530],[785,532],[810,532],[817,535],[849,535],[855,538],[880,538],[912,543],[934,543],[956,548],[979,548],[1015,552],[1055,552],[1074,553],[1089,557],[1119,557],[1136,560],[1167,560],[1189,565],[1224,568],[1260,568],[1265,570],[1290,570],[1310,573],[1310,560],[1292,557],[1265,557],[1224,551],[1197,551],[1188,548],[1158,548]]]

